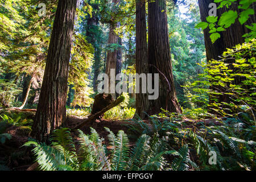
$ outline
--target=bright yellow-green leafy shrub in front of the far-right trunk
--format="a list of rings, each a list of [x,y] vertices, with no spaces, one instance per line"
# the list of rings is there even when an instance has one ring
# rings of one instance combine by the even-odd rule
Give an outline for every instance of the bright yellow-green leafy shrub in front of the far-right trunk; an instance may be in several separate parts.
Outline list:
[[[199,80],[191,84],[196,93],[191,96],[191,102],[201,102],[202,105],[200,109],[187,109],[186,113],[193,118],[214,117],[209,114],[212,112],[207,112],[210,108],[218,117],[233,117],[234,114],[249,110],[251,116],[254,117],[256,106],[255,55],[256,39],[252,39],[248,43],[227,49],[220,60],[212,60],[202,65],[205,72],[199,75]],[[228,102],[221,100],[220,96],[228,98],[226,99]]]

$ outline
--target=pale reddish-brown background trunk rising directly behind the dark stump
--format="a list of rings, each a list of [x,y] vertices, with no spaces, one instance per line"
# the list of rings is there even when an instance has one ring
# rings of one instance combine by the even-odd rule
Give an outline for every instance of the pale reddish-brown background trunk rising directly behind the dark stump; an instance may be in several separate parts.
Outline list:
[[[117,5],[120,0],[113,0],[112,2],[114,5]],[[117,44],[118,43],[118,35],[115,34],[114,30],[117,28],[118,23],[112,22],[110,23],[110,28],[109,28],[109,41],[108,44]],[[115,49],[114,51],[109,50],[107,53],[106,57],[106,71],[105,73],[109,76],[109,93],[111,92],[111,86],[110,85],[115,85],[115,81],[110,79],[110,70],[111,69],[116,69],[117,68],[117,52],[118,50]],[[113,90],[114,91],[114,90]],[[111,93],[113,97],[115,97],[114,93]]]

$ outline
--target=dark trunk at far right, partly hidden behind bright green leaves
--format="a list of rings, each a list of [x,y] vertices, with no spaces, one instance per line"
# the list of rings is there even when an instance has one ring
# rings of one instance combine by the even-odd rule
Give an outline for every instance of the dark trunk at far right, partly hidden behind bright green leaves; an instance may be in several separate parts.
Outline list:
[[[200,8],[200,15],[201,15],[201,20],[203,22],[207,22],[207,16],[209,16],[209,4],[213,3],[214,0],[199,0],[199,8]],[[238,9],[238,6],[233,4],[232,6],[229,7],[230,10],[236,10],[238,13],[241,12],[240,9]],[[228,9],[224,6],[221,9],[217,9],[217,16],[220,17],[222,13],[228,11]],[[256,18],[255,15],[250,16],[247,24],[255,23]],[[245,23],[246,24],[246,23]],[[210,40],[210,34],[209,34],[209,28],[206,28],[204,30],[204,39],[205,39],[205,49],[206,49],[206,54],[207,54],[207,61],[210,61],[212,59],[214,60],[219,60],[220,56],[224,51],[226,51],[226,48],[232,48],[236,46],[237,44],[241,44],[245,42],[245,39],[242,37],[242,35],[246,34],[249,32],[249,30],[245,27],[245,24],[241,25],[241,23],[236,20],[232,26],[229,28],[226,28],[226,31],[219,32],[221,34],[221,38],[217,39],[215,43],[212,43]],[[234,63],[234,60],[229,59],[229,62],[227,63]],[[237,77],[235,80],[236,84],[240,82],[240,78]],[[217,91],[217,92],[224,92],[224,88],[221,86],[210,86],[210,89]],[[230,102],[231,99],[228,95],[226,94],[221,94],[221,95],[214,95],[214,98],[218,99],[218,102]],[[210,96],[210,103],[212,104],[213,102],[213,97]],[[226,107],[223,105],[222,107]],[[210,107],[212,108],[212,107]],[[210,109],[210,113],[212,114],[217,114],[216,111]]]

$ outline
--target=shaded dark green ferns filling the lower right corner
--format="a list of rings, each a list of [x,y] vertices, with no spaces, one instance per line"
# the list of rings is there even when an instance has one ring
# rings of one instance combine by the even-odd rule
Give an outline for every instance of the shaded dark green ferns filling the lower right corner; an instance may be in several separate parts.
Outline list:
[[[218,122],[220,126],[214,123],[206,126],[204,121],[184,122],[179,118],[170,119],[164,113],[150,117],[150,123],[134,119],[128,126],[136,136],[157,133],[160,138],[166,138],[167,150],[182,148],[183,152],[180,152],[184,156],[188,156],[186,152],[193,155],[194,161],[185,162],[188,166],[184,164],[184,170],[255,170],[256,128],[250,114],[241,113],[240,117],[222,118]],[[216,153],[216,164],[209,164],[210,152]],[[178,161],[174,159],[172,162]],[[172,165],[172,169],[177,168]]]

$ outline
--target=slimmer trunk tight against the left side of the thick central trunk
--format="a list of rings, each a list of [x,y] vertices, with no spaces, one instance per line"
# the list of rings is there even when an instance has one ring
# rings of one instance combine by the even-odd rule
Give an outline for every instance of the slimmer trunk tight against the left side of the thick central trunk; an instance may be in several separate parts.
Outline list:
[[[131,38],[129,39],[129,42]],[[131,45],[129,44],[129,49]],[[129,50],[130,52],[130,50]],[[147,25],[145,0],[136,3],[136,73],[148,73],[147,59]],[[144,111],[150,109],[148,94],[142,93],[142,82],[139,85],[140,92],[136,94],[136,114],[142,119],[146,118]],[[136,115],[135,115],[136,117]]]

